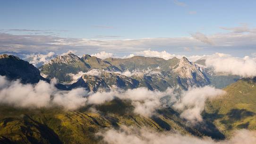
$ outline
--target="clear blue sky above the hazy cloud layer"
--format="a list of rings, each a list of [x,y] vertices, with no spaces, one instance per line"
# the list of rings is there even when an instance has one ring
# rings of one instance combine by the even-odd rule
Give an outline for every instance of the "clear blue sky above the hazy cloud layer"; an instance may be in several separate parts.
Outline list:
[[[212,37],[214,42],[216,34],[232,31],[238,34],[235,28],[254,30],[255,6],[255,0],[1,0],[0,32],[86,40],[181,38],[199,32]],[[248,32],[242,30],[239,33]],[[249,36],[255,38],[255,34]],[[151,44],[144,49],[190,54],[227,52],[230,51],[230,46],[226,48],[228,42],[222,42],[221,46],[218,43],[203,46],[192,44],[192,47],[198,45],[205,51],[184,51],[191,44],[184,46],[182,43],[180,51],[159,44]],[[254,43],[239,44],[231,45],[236,47],[230,51],[234,55],[249,55],[255,50]],[[223,46],[225,48],[222,49]],[[102,51],[100,47],[96,49]],[[242,51],[244,49],[247,52]],[[0,50],[7,49],[2,46]],[[235,51],[242,51],[242,54]]]

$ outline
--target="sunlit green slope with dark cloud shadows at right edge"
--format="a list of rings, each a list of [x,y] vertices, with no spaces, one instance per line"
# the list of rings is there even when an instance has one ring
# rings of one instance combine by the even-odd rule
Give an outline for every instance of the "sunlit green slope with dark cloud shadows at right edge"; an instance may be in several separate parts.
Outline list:
[[[205,118],[213,121],[223,134],[247,128],[256,130],[256,83],[239,80],[224,88],[226,95],[206,103]]]

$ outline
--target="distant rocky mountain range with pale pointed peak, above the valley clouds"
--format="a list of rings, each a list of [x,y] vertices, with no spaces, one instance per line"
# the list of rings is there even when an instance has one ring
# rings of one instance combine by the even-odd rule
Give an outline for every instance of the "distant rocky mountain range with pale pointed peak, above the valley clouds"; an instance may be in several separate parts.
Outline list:
[[[86,73],[95,69],[104,71],[102,73],[104,76],[94,76],[100,82],[95,87],[86,87],[89,83],[94,83],[91,80],[95,80],[92,78],[93,76],[88,76],[88,74],[87,76],[82,76],[83,80],[80,79],[79,82],[70,87],[79,87],[78,84],[81,84],[80,86],[87,88],[89,91],[96,91],[97,87],[102,87],[102,85],[106,85],[108,88],[113,85],[124,88],[123,84],[121,84],[124,83],[122,81],[124,79],[127,82],[130,81],[128,82],[129,84],[127,83],[128,88],[144,86],[151,90],[158,89],[161,91],[166,90],[168,87],[176,86],[180,86],[181,89],[204,85],[214,85],[222,88],[235,82],[239,77],[210,73],[208,69],[190,62],[185,57],[168,60],[142,56],[134,56],[127,59],[99,59],[87,54],[79,58],[73,53],[68,53],[51,59],[39,69],[46,78],[55,77],[60,83],[66,84],[73,80],[70,74]],[[119,79],[118,77],[120,76],[122,78]],[[107,83],[107,81],[110,82]]]

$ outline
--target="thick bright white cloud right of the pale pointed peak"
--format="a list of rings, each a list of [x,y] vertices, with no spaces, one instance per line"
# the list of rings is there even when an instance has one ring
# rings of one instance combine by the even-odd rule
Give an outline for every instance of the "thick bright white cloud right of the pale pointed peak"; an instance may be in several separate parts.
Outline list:
[[[232,57],[228,54],[215,53],[206,58],[207,67],[215,72],[223,72],[242,77],[256,76],[256,60],[248,56],[244,58]]]

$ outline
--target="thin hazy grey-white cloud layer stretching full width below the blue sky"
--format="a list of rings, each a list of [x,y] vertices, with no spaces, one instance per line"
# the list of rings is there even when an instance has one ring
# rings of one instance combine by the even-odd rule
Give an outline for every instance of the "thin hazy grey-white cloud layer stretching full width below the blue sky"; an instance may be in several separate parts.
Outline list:
[[[222,50],[232,48],[234,50],[253,49],[256,45],[256,30],[251,29],[248,33],[218,33],[207,35],[196,33],[192,34],[195,38],[169,37],[169,38],[142,38],[142,39],[123,39],[123,40],[98,40],[98,39],[79,39],[79,38],[61,38],[50,35],[14,35],[0,33],[1,51],[26,51],[42,52],[53,51],[63,53],[68,50],[76,50],[77,53],[86,53],[88,51],[97,53],[106,51],[108,53],[131,53],[152,50],[168,50],[184,52],[184,47],[200,47],[205,51]],[[210,41],[210,42],[209,42]],[[206,43],[205,43],[206,42]],[[213,45],[208,43],[214,42]],[[86,47],[86,49],[85,49]],[[215,52],[216,52],[215,51]],[[193,52],[193,51],[192,51]],[[235,51],[230,51],[235,53]]]

